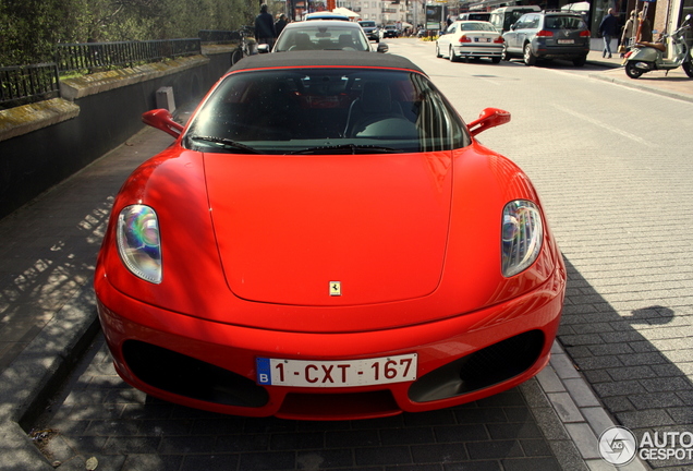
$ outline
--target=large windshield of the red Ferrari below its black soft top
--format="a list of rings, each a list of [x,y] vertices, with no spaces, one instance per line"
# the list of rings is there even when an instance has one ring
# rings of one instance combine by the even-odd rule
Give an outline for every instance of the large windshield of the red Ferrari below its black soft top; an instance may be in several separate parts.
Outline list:
[[[243,154],[418,153],[469,143],[425,76],[358,68],[231,74],[183,140],[187,148]]]

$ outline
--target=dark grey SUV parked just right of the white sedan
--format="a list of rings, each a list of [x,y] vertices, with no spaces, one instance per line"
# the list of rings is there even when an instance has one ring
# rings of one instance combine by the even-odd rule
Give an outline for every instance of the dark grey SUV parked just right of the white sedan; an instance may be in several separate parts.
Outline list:
[[[534,65],[538,59],[564,59],[582,67],[587,61],[589,36],[578,13],[526,13],[503,34],[503,59],[521,57],[527,65]]]

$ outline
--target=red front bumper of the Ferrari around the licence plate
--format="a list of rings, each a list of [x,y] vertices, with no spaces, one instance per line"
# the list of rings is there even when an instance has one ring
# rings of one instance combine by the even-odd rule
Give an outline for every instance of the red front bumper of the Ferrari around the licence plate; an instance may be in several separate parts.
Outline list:
[[[122,357],[122,342],[138,339],[155,342],[163,348],[183,351],[196,358],[204,358],[215,365],[255,378],[255,359],[313,358],[316,360],[357,359],[374,355],[418,353],[420,376],[450,361],[486,347],[497,338],[509,338],[514,334],[539,328],[546,338],[554,338],[560,321],[564,290],[564,277],[557,270],[551,280],[536,292],[514,299],[489,310],[460,315],[445,321],[381,331],[351,334],[299,334],[277,330],[260,330],[196,319],[186,315],[162,312],[156,306],[143,304],[122,297],[107,287],[108,279],[99,277],[97,286],[102,293],[111,293],[99,300],[99,318],[108,331],[118,373],[131,385],[156,397],[190,407],[221,413],[287,419],[338,420],[366,419],[408,412],[422,412],[455,406],[481,399],[514,387],[538,373],[549,360],[550,343],[542,351],[536,363],[522,375],[511,381],[450,399],[415,402],[408,397],[409,383],[388,386],[360,387],[358,391],[389,390],[396,403],[389,408],[368,404],[349,404],[348,396],[340,397],[339,404],[330,403],[318,408],[316,402],[296,409],[283,407],[288,394],[306,394],[319,401],[319,395],[312,388],[268,387],[270,400],[263,408],[240,408],[216,404],[169,394],[143,383],[127,367]],[[112,306],[112,309],[106,307]],[[117,313],[132,313],[136,319]],[[460,333],[454,335],[454,333]],[[412,347],[416,346],[416,347]],[[326,354],[329,352],[329,355]],[[354,388],[332,388],[320,390],[326,395],[353,392]]]

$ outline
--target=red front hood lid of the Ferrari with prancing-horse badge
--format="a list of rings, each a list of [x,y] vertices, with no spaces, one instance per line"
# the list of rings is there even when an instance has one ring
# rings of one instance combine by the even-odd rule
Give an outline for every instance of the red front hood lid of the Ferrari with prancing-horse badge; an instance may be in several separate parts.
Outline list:
[[[230,290],[248,301],[316,306],[431,293],[449,231],[450,159],[206,154]]]

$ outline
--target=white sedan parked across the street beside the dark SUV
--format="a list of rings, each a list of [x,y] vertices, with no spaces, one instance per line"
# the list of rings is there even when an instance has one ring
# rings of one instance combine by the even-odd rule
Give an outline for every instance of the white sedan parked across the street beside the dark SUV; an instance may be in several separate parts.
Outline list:
[[[502,52],[503,37],[488,22],[453,22],[436,40],[436,57],[447,57],[451,62],[488,58],[498,63]]]

